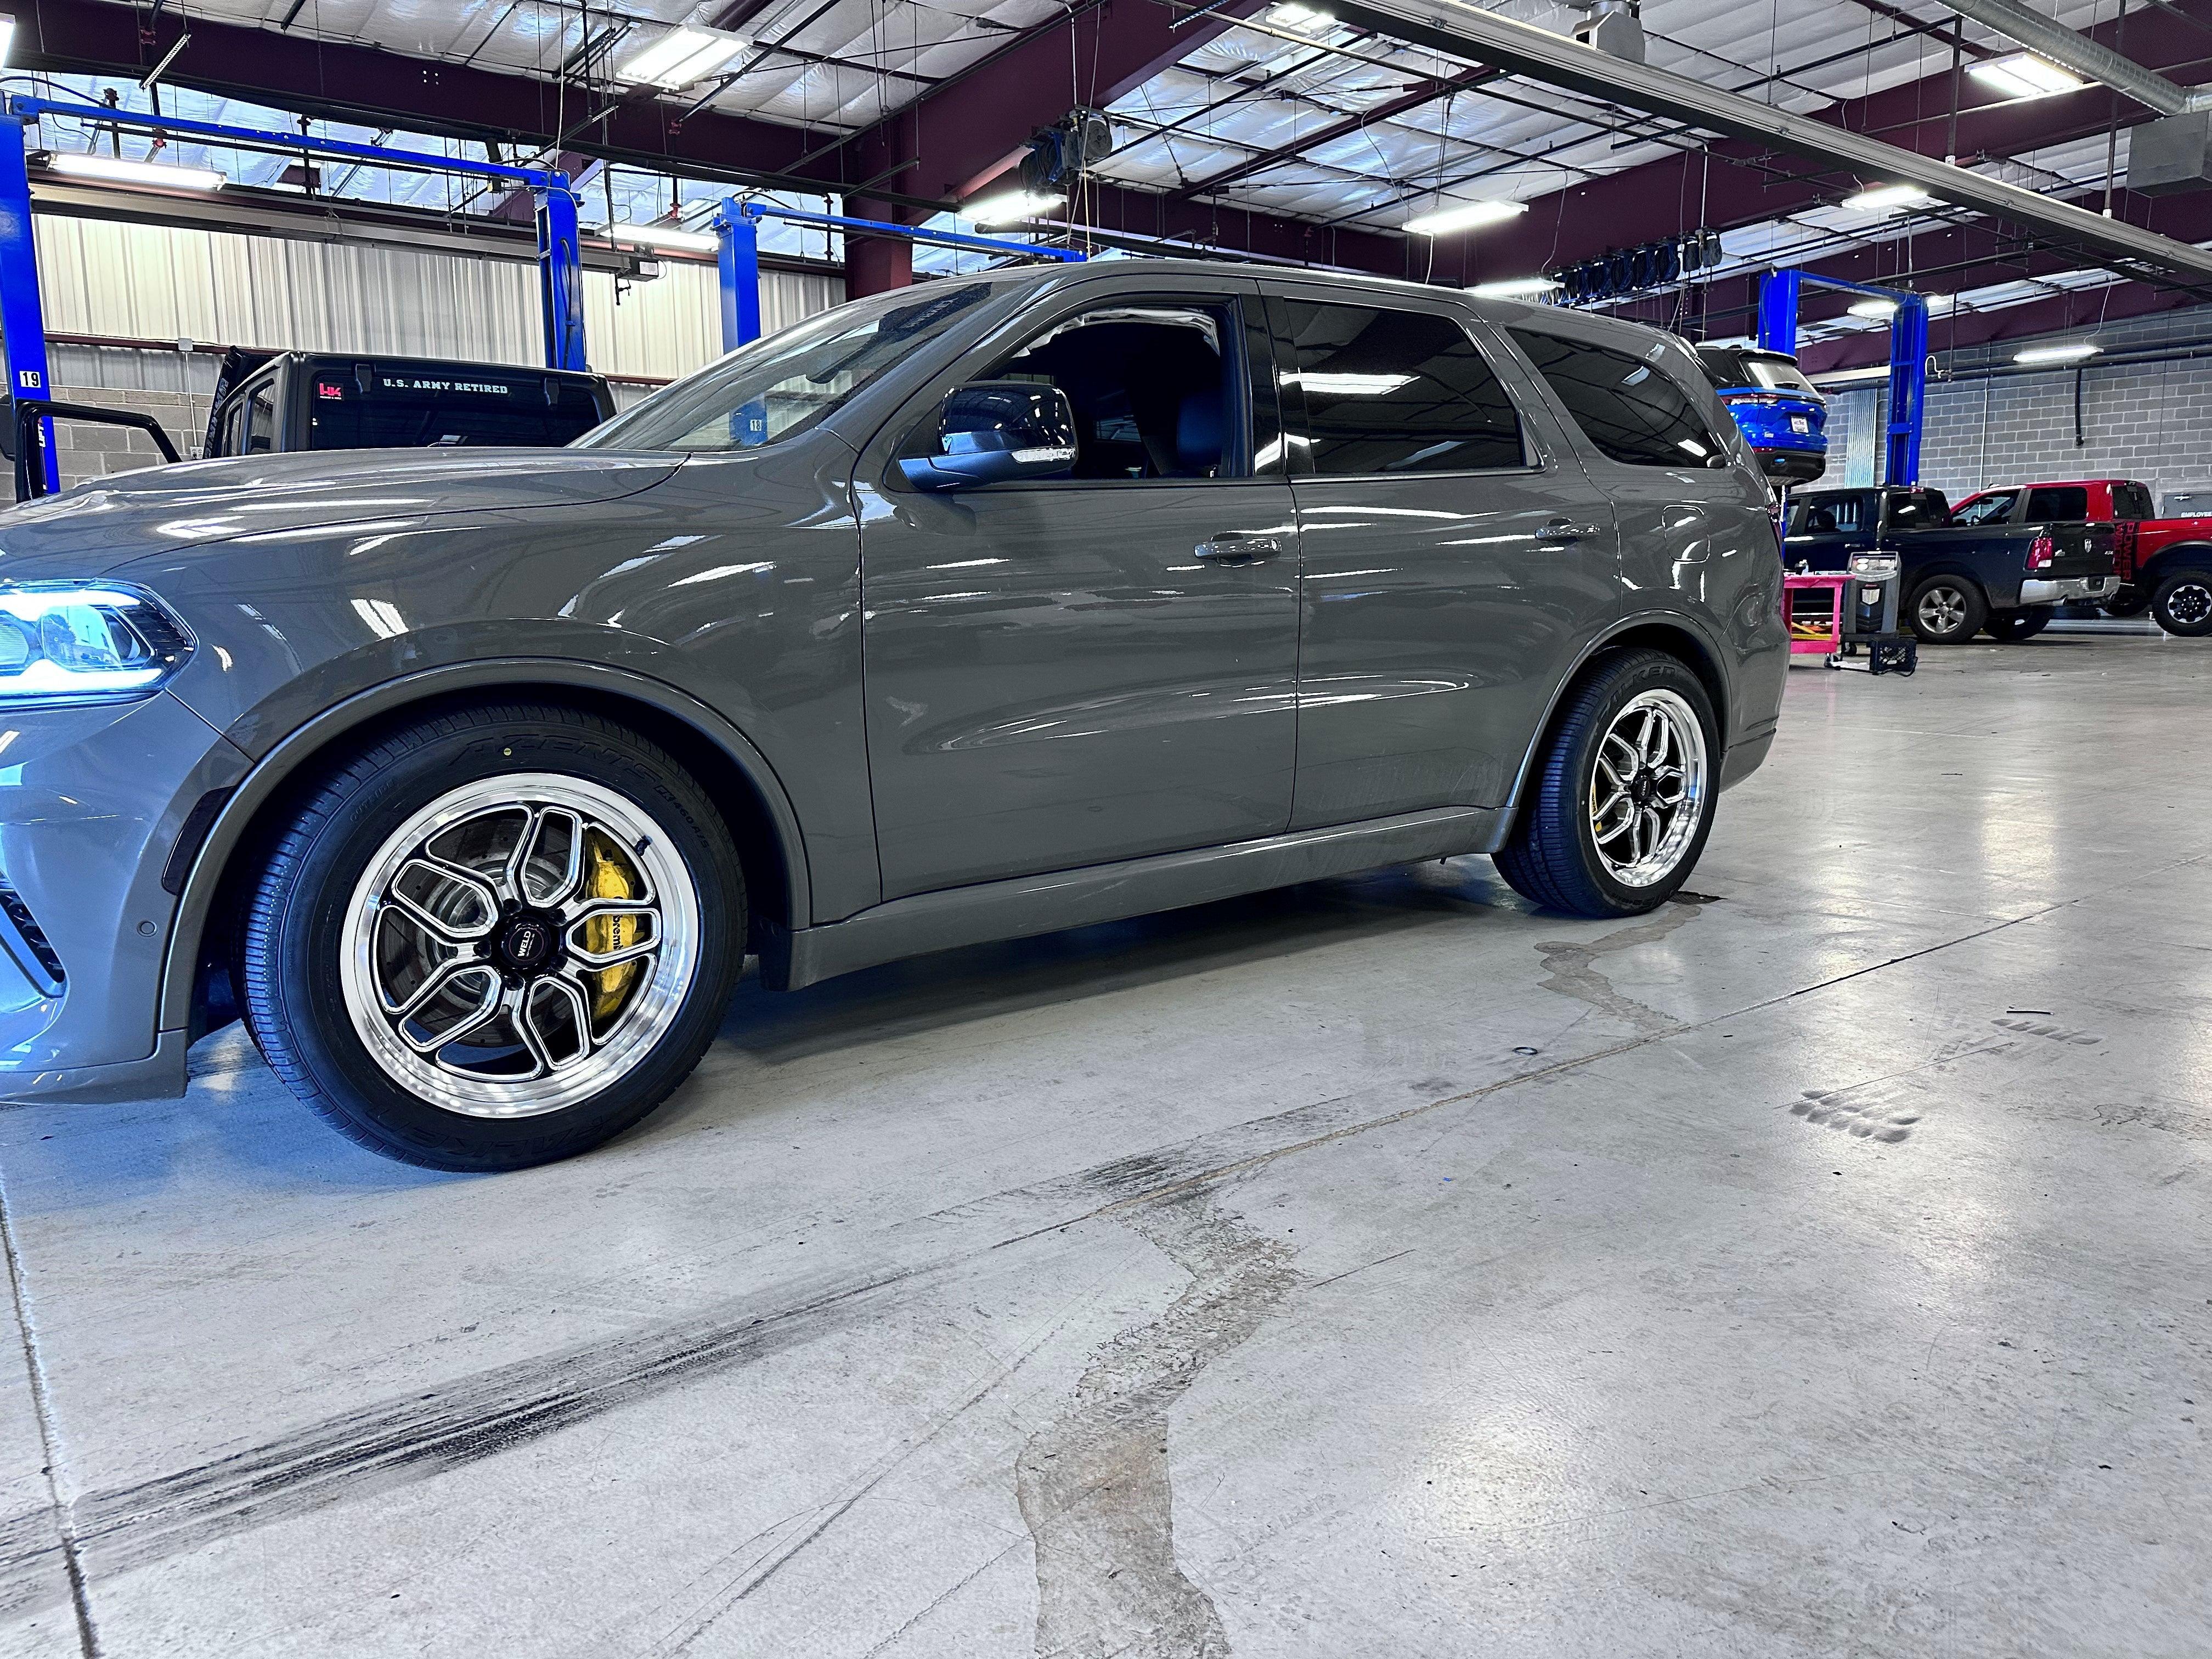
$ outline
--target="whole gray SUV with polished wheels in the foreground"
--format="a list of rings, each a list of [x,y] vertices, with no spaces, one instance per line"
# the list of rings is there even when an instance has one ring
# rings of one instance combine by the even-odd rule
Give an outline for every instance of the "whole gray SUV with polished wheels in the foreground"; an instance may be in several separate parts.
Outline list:
[[[1767,487],[1690,349],[1237,265],[929,283],[555,451],[0,515],[0,1095],[595,1146],[770,987],[1482,852],[1628,916],[1774,737]]]

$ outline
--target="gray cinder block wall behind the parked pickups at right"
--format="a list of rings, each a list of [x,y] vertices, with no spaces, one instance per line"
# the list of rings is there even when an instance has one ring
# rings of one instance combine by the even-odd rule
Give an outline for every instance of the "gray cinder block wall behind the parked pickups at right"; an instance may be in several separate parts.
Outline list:
[[[2095,338],[2104,352],[2212,345],[2212,307],[2070,330],[2053,338]],[[2006,365],[2026,341],[1958,354],[1953,372]],[[1942,345],[1942,321],[1936,323]],[[1882,420],[1882,389],[1854,387],[1829,398],[1829,478],[1871,484]],[[1867,442],[1854,442],[1865,438]],[[1860,467],[1865,478],[1845,476]],[[2081,367],[2081,442],[2075,442],[2075,369],[1993,374],[1929,383],[1920,440],[1920,482],[1951,500],[1991,484],[2042,478],[2141,478],[2166,491],[2212,484],[2212,356],[2166,363]]]

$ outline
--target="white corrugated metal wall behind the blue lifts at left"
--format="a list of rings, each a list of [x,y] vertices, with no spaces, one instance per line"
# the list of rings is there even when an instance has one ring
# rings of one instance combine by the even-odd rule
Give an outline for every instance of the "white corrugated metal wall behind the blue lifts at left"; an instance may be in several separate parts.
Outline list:
[[[60,215],[33,223],[53,334],[540,361],[535,265]],[[761,321],[774,332],[843,296],[834,276],[763,272]],[[690,374],[721,354],[714,268],[664,261],[619,303],[611,274],[584,272],[584,336],[602,374]]]

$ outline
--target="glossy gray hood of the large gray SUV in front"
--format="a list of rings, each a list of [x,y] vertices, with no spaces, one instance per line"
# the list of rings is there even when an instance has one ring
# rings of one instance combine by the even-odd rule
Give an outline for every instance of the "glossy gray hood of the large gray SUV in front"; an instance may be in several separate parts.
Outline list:
[[[0,582],[91,577],[263,531],[611,502],[679,465],[619,449],[327,449],[148,467],[0,511]]]

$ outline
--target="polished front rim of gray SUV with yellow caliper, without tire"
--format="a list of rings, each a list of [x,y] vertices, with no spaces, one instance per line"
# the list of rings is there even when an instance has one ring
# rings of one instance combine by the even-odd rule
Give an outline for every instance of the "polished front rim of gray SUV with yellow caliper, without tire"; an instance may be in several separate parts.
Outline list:
[[[586,1102],[661,1042],[699,971],[668,832],[557,772],[453,787],[385,836],[341,942],[345,1011],[403,1088],[467,1117]]]

